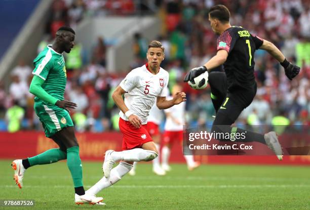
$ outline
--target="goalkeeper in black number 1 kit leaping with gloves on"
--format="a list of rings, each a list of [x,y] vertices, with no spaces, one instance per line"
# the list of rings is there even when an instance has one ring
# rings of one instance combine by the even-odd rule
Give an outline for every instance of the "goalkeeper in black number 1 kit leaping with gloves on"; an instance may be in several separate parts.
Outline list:
[[[216,133],[246,133],[244,140],[239,142],[260,142],[266,144],[282,160],[283,153],[275,132],[257,134],[230,127],[236,121],[243,109],[248,107],[256,94],[254,77],[254,53],[261,49],[267,51],[285,69],[286,76],[292,80],[300,68],[286,60],[281,51],[269,41],[252,35],[241,26],[229,24],[230,13],[224,5],[211,7],[209,21],[212,30],[219,35],[217,39],[217,54],[205,65],[191,69],[184,81],[193,78],[223,64],[225,72],[210,72],[209,84],[211,99],[216,110],[212,132]],[[194,82],[195,83],[195,82]],[[229,139],[218,139],[230,141]]]

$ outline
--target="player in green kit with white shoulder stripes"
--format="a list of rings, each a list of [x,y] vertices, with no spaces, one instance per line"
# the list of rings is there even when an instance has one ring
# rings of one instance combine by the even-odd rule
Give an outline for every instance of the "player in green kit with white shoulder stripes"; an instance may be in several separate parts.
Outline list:
[[[53,139],[59,148],[47,150],[34,157],[14,160],[12,166],[16,185],[22,188],[22,179],[28,167],[67,159],[74,184],[75,203],[95,204],[102,201],[102,198],[85,194],[79,144],[68,110],[77,105],[64,100],[67,78],[62,53],[70,53],[74,46],[74,37],[75,32],[70,27],[63,26],[57,30],[53,45],[47,46],[33,61],[34,76],[29,89],[29,92],[35,95],[34,110],[42,122],[45,135]]]

